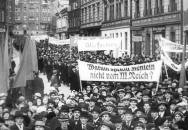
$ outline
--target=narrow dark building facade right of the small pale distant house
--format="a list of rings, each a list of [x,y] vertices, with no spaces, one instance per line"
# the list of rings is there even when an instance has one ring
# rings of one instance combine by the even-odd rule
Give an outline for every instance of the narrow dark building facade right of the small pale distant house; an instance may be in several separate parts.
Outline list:
[[[81,25],[81,0],[69,0],[69,11],[68,11],[68,21],[69,36],[80,35],[80,25]]]

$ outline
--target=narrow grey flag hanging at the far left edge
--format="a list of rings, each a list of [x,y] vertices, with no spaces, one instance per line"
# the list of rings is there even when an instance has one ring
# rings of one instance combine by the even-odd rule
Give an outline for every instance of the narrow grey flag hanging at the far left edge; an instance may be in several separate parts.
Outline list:
[[[0,93],[6,93],[9,89],[8,29],[0,35],[0,40]]]

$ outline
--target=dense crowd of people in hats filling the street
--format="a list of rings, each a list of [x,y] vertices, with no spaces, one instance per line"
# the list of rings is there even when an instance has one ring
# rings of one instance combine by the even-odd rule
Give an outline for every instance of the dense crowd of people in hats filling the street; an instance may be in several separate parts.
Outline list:
[[[68,45],[49,43],[37,43],[37,51],[39,73],[47,76],[54,89],[46,94],[34,84],[33,97],[20,95],[11,107],[7,105],[10,97],[1,94],[0,130],[188,129],[188,93],[179,86],[179,74],[170,69],[168,78],[163,71],[160,84],[79,80],[78,59],[126,66],[156,61],[158,57],[124,55],[115,59],[103,51],[78,53]],[[35,73],[36,78],[39,73]],[[61,84],[72,90],[67,98],[58,89]]]

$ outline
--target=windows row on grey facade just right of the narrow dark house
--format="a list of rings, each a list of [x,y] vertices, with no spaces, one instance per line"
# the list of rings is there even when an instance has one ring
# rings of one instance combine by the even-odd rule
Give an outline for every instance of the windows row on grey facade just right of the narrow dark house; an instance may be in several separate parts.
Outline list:
[[[82,23],[90,23],[100,20],[100,3],[90,5],[81,9]],[[102,17],[102,16],[101,16]]]

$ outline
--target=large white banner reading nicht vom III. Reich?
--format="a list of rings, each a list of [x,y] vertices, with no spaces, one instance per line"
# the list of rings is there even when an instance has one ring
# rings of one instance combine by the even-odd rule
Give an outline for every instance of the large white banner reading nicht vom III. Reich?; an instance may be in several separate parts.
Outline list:
[[[78,61],[80,80],[83,81],[159,81],[162,61],[131,66],[109,66]]]

